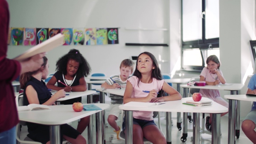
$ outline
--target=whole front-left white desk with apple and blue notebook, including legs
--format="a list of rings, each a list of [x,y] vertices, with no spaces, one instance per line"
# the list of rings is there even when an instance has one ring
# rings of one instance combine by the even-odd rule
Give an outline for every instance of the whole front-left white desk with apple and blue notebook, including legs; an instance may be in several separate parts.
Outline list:
[[[109,108],[109,104],[95,104],[102,110]],[[49,106],[49,110],[35,110],[18,112],[20,121],[27,121],[36,124],[50,126],[51,144],[60,144],[60,125],[76,121],[88,115],[96,113],[97,144],[103,144],[102,136],[102,110],[75,112],[72,105]]]

